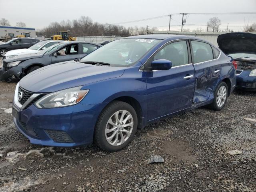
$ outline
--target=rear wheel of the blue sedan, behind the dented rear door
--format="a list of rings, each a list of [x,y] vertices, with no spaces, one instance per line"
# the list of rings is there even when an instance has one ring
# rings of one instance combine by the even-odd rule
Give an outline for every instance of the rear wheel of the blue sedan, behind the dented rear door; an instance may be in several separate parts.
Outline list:
[[[228,85],[221,82],[214,92],[214,100],[209,105],[209,108],[215,111],[220,111],[226,105],[228,99]]]

